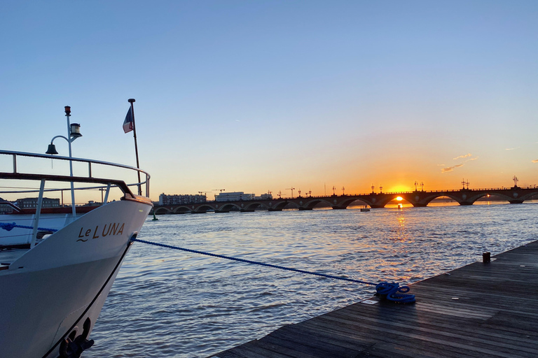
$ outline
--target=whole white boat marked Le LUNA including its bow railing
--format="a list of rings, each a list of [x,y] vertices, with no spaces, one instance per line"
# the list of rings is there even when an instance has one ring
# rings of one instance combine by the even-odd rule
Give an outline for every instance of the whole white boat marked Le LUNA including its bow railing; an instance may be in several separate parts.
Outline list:
[[[67,166],[57,162],[76,163],[86,174],[47,173],[51,158],[59,169]],[[36,209],[13,208],[0,215],[0,358],[80,357],[93,343],[95,321],[131,239],[152,208],[149,175],[120,164],[27,152],[0,150],[0,159],[0,197],[34,192],[39,199]],[[32,171],[21,170],[29,167]],[[92,176],[98,167],[99,173],[112,170],[115,178]],[[138,195],[127,178],[116,177],[118,171],[132,179],[144,176],[133,180]],[[88,190],[104,195],[104,205],[76,212],[41,207],[44,194],[71,189],[77,196]],[[107,202],[113,196],[119,200]]]

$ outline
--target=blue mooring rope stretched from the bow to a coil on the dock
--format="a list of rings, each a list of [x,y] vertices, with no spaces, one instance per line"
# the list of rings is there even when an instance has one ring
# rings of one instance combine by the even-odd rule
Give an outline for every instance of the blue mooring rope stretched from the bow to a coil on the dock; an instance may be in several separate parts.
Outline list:
[[[375,291],[380,295],[380,297],[382,299],[388,299],[389,301],[394,301],[396,303],[413,303],[413,302],[415,302],[415,295],[414,294],[406,294],[406,292],[409,292],[409,287],[407,287],[407,286],[400,287],[397,282],[385,282],[385,281],[382,281],[382,282],[379,282],[379,283],[374,283],[374,282],[353,280],[352,278],[345,278],[345,277],[339,277],[339,276],[333,276],[333,275],[326,275],[324,273],[315,273],[315,272],[310,272],[310,271],[304,271],[304,270],[299,270],[297,268],[289,268],[289,267],[284,267],[284,266],[265,264],[263,262],[256,262],[256,261],[251,261],[251,260],[246,260],[246,259],[238,259],[237,257],[229,257],[229,256],[224,256],[224,255],[217,255],[217,254],[212,254],[210,252],[203,252],[203,251],[198,251],[198,250],[179,248],[177,246],[165,245],[163,243],[152,243],[151,241],[140,240],[139,238],[131,238],[131,241],[138,241],[139,243],[146,243],[146,244],[149,244],[149,245],[160,246],[162,248],[169,248],[169,249],[174,249],[174,250],[193,252],[195,254],[200,254],[200,255],[219,257],[221,259],[228,259],[228,260],[233,260],[233,261],[238,261],[238,262],[245,262],[247,264],[255,264],[255,265],[261,265],[261,266],[267,266],[267,267],[273,267],[273,268],[280,268],[281,270],[294,271],[294,272],[299,272],[299,273],[307,273],[308,275],[316,275],[316,276],[321,276],[321,277],[325,277],[325,278],[334,278],[336,280],[345,280],[345,281],[357,282],[357,283],[362,283],[364,285],[375,285]]]

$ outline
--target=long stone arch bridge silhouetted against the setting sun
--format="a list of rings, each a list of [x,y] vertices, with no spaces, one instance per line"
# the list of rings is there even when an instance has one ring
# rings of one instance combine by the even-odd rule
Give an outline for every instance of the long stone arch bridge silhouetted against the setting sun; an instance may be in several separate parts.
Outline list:
[[[389,201],[401,197],[415,207],[427,206],[428,203],[441,196],[448,196],[457,201],[460,205],[472,205],[483,196],[493,195],[499,199],[505,199],[509,203],[523,203],[532,196],[538,194],[536,187],[511,187],[509,189],[460,189],[460,190],[435,190],[425,192],[416,190],[414,192],[394,192],[394,193],[370,193],[352,195],[331,195],[331,196],[298,196],[293,199],[270,199],[270,200],[243,200],[243,201],[207,201],[205,203],[190,203],[174,206],[155,206],[153,208],[156,215],[163,214],[184,214],[184,213],[229,213],[230,211],[251,212],[254,210],[280,211],[284,208],[297,208],[298,210],[312,210],[322,203],[331,206],[333,209],[345,209],[353,201],[363,201],[371,208],[384,208]]]

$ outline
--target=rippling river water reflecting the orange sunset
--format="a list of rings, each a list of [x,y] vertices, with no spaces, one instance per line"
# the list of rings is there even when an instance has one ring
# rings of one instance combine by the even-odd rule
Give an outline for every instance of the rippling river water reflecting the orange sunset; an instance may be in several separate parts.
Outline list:
[[[161,215],[138,238],[405,284],[537,240],[537,217],[532,201]],[[374,293],[371,285],[135,243],[83,356],[208,357]]]

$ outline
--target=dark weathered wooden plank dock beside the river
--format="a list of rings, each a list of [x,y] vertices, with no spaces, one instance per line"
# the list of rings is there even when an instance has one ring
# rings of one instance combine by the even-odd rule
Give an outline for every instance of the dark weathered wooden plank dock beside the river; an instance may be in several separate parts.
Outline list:
[[[409,293],[416,303],[368,299],[212,357],[538,357],[538,241],[417,282]]]

